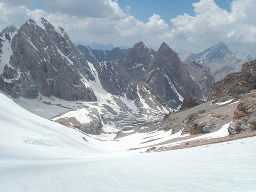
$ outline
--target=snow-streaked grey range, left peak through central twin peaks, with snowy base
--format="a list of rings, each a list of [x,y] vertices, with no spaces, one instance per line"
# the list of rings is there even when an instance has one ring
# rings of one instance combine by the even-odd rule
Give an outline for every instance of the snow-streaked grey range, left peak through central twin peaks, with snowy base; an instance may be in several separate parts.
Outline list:
[[[92,64],[64,29],[44,18],[29,19],[11,35],[1,41],[9,49],[0,52],[0,90],[23,108],[86,133],[117,132],[177,111],[185,97],[203,98],[200,83],[166,43],[157,52],[143,42],[129,53],[82,47],[94,55],[88,60],[123,57]]]

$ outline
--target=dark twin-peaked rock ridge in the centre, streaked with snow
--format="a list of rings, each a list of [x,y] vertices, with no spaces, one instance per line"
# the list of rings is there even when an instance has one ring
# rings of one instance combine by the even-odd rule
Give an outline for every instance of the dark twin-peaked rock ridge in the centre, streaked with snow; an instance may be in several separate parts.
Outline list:
[[[153,94],[163,106],[177,110],[183,97],[202,97],[198,82],[189,76],[177,53],[166,43],[156,52],[140,42],[125,59],[93,66],[105,90],[116,96],[125,94],[130,100]]]

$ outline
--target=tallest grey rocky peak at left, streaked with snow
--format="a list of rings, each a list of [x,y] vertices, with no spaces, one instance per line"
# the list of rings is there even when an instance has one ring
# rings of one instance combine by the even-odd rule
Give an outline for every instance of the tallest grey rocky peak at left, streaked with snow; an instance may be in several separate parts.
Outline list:
[[[95,101],[86,81],[94,80],[86,59],[67,33],[44,18],[29,19],[12,38],[9,66],[0,90],[12,97],[55,96],[68,101]]]

